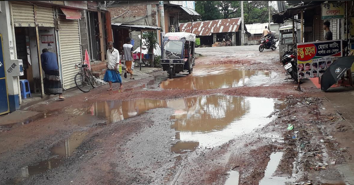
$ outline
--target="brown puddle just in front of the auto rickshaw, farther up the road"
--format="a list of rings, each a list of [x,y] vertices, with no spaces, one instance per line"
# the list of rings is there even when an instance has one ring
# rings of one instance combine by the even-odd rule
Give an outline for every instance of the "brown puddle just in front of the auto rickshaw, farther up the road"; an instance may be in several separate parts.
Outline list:
[[[193,75],[161,82],[163,89],[225,89],[259,86],[272,79],[272,72],[235,69],[232,65],[198,65]]]

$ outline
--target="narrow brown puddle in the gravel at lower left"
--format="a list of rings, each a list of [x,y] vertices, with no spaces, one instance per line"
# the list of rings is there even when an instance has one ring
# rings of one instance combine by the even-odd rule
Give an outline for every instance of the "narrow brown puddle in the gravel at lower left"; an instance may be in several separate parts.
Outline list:
[[[64,162],[63,158],[72,156],[73,152],[76,151],[76,148],[80,146],[82,141],[84,141],[84,138],[87,134],[88,132],[75,132],[70,135],[67,140],[53,146],[51,151],[55,155],[55,157],[49,160],[41,161],[32,166],[23,167],[21,169],[21,178],[17,180],[21,181],[24,178],[29,177],[30,175],[44,173],[47,170],[51,170],[61,166]]]

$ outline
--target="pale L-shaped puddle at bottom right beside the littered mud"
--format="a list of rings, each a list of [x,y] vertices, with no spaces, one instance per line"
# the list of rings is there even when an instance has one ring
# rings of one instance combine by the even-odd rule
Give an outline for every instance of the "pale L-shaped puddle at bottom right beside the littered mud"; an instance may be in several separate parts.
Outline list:
[[[279,166],[281,158],[283,156],[282,152],[273,153],[270,155],[270,161],[268,162],[268,166],[265,169],[264,178],[259,181],[259,185],[285,185],[286,182],[291,181],[292,179],[286,177],[274,177],[274,173]]]

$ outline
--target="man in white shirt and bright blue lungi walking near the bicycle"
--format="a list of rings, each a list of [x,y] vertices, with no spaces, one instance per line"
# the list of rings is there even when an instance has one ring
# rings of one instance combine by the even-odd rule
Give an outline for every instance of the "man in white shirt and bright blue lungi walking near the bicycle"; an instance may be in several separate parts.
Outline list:
[[[113,42],[108,42],[107,50],[107,70],[104,74],[103,80],[109,83],[109,89],[107,91],[112,91],[112,83],[120,83],[119,89],[123,88],[122,78],[120,74],[117,73],[119,65],[119,52],[113,47]]]

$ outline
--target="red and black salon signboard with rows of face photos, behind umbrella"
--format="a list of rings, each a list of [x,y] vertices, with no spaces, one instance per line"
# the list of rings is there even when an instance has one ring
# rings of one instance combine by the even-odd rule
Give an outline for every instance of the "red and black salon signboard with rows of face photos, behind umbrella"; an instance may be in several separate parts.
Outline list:
[[[342,54],[342,40],[297,44],[299,79],[322,76],[333,62],[342,57]]]

